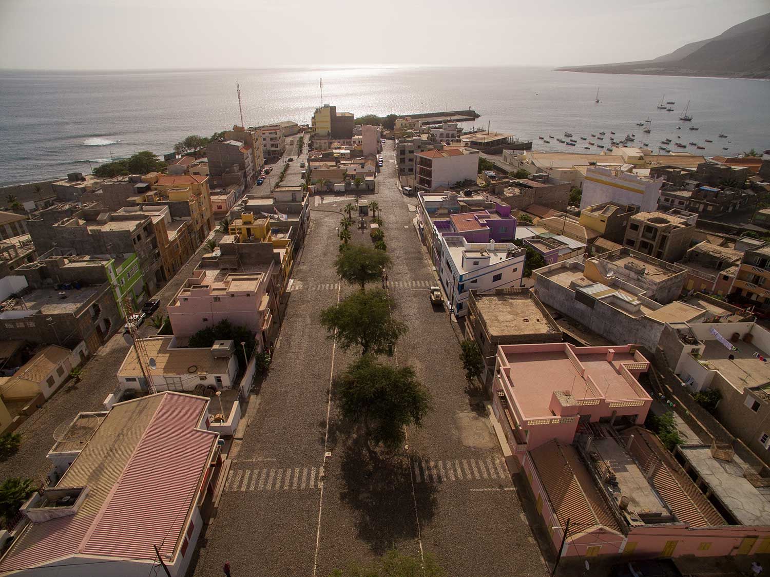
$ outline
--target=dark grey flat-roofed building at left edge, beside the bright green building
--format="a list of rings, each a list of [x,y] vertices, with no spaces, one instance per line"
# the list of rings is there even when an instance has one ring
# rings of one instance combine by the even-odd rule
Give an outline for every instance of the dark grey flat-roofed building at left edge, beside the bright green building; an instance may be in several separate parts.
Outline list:
[[[89,354],[94,354],[122,327],[111,283],[35,287],[28,285],[24,277],[15,278],[22,280],[22,288],[0,304],[0,327],[5,338],[71,349],[85,340]]]

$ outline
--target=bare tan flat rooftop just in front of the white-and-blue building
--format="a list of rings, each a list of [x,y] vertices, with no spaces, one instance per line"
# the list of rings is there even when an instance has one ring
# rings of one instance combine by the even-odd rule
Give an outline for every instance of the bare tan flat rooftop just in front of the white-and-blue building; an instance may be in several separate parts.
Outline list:
[[[477,294],[476,307],[484,317],[491,337],[512,334],[561,334],[559,327],[547,317],[527,294]]]

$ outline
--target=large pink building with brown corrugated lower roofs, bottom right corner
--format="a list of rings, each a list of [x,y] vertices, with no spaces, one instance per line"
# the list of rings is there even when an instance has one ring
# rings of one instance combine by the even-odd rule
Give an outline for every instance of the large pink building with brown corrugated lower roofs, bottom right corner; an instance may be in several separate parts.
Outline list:
[[[498,347],[494,414],[554,549],[582,558],[770,552],[770,479],[730,445],[672,454],[639,426],[651,398],[636,377],[648,367],[633,345]]]

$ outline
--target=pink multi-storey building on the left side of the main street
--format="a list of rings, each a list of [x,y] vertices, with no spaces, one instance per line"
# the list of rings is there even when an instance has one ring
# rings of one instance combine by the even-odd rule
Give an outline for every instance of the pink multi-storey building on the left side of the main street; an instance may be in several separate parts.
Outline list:
[[[259,350],[269,343],[276,310],[270,262],[250,273],[205,268],[193,271],[167,307],[176,337],[190,337],[221,320],[246,327],[256,335]]]

